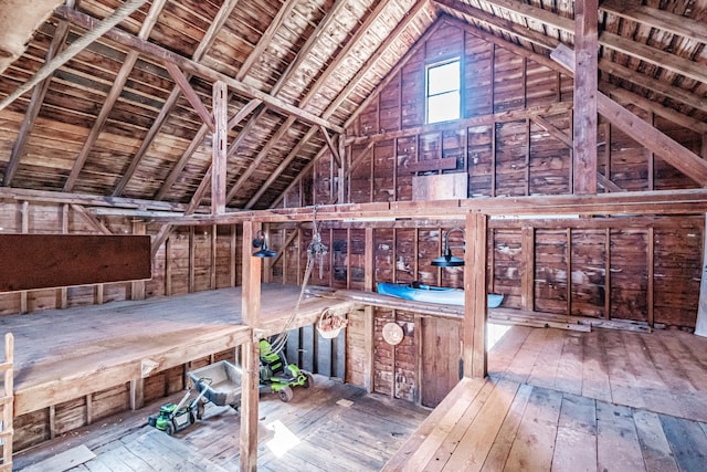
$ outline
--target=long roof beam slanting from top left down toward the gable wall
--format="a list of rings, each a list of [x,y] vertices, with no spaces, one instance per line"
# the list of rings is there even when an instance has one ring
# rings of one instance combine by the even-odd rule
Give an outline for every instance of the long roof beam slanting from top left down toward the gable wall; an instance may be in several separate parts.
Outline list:
[[[57,8],[54,12],[54,15],[60,20],[70,21],[72,24],[84,29],[93,29],[98,23],[98,21],[93,17],[71,9],[66,9],[64,7]],[[312,123],[315,125],[323,125],[336,133],[344,133],[342,127],[323,119],[319,116],[316,116],[309,112],[305,112],[304,109],[300,109],[295,105],[286,103],[251,85],[247,85],[241,81],[236,81],[233,77],[229,77],[225,74],[207,67],[205,65],[199,64],[198,62],[192,61],[188,57],[173,53],[157,44],[140,40],[139,38],[126,33],[125,31],[113,28],[105,33],[105,36],[123,46],[135,49],[136,51],[148,55],[159,61],[160,63],[171,62],[175,65],[179,66],[182,71],[198,75],[211,83],[222,81],[229,86],[229,88],[233,90],[234,92],[249,98],[262,99],[268,106],[277,109],[281,113],[284,113],[286,115],[295,115],[303,122]]]

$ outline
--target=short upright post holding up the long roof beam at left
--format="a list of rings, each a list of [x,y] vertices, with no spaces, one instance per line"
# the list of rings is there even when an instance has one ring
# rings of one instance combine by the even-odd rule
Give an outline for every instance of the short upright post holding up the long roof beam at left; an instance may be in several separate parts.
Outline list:
[[[229,91],[225,83],[213,84],[213,147],[211,160],[211,214],[225,213],[226,160],[229,150]]]

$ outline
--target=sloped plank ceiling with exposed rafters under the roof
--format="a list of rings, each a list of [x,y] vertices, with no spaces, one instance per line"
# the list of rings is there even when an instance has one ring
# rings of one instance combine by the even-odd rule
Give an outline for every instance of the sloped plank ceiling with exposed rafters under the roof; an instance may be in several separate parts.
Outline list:
[[[0,74],[0,183],[190,208],[209,204],[202,117],[219,77],[230,91],[228,206],[268,208],[336,146],[441,17],[546,56],[574,38],[570,1],[152,0],[31,92],[7,98],[129,2],[66,0],[53,14],[56,2],[46,11],[33,3],[0,4],[6,31],[22,10],[49,14]],[[603,1],[600,90],[632,92],[676,123],[707,122],[706,20],[704,1]],[[17,48],[3,41],[0,51]]]

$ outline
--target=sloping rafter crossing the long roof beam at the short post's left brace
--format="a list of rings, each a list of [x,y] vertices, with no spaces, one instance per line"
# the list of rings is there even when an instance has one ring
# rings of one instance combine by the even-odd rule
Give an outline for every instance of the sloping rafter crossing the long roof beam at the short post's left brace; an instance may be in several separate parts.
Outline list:
[[[209,49],[211,49],[213,41],[217,39],[217,35],[219,34],[219,31],[221,31],[221,28],[223,27],[225,21],[229,19],[231,13],[233,12],[233,9],[238,4],[238,2],[239,0],[226,0],[223,3],[223,6],[221,6],[221,9],[217,13],[213,21],[211,22],[209,30],[207,31],[203,39],[199,43],[197,51],[194,51],[194,53],[192,54],[191,56],[192,61],[196,61],[196,62],[203,61],[204,55],[207,54]],[[181,95],[181,90],[179,88],[178,85],[175,85],[175,87],[169,94],[169,97],[167,97],[167,99],[165,101],[165,104],[159,111],[157,118],[152,123],[152,126],[150,126],[150,129],[147,132],[145,139],[143,139],[143,143],[140,144],[139,149],[130,160],[130,165],[128,166],[127,170],[120,178],[120,181],[114,189],[113,191],[114,197],[118,197],[123,195],[123,192],[125,191],[125,187],[128,185],[128,182],[135,175],[135,171],[140,165],[143,157],[145,156],[145,154],[147,154],[147,150],[152,145],[152,141],[155,140],[159,132],[162,129],[162,126],[167,122],[167,118],[170,116],[170,114],[172,113],[172,109],[177,105],[177,102],[179,101],[180,95]]]

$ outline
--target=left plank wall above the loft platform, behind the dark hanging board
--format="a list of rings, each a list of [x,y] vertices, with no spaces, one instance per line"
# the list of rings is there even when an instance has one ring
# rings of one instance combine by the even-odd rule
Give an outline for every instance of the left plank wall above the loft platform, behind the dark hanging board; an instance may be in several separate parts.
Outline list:
[[[71,204],[0,202],[2,233],[137,234],[143,230],[156,234],[159,227],[127,218],[97,218]],[[234,286],[241,276],[240,248],[236,225],[178,228],[155,255],[149,281],[1,293],[0,315]]]

